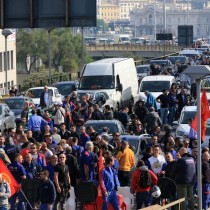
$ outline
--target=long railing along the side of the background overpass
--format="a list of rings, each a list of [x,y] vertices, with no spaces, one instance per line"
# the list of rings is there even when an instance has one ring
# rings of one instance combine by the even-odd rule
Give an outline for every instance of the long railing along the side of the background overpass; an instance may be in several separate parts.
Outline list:
[[[88,51],[173,51],[178,52],[179,46],[176,45],[88,45]]]

